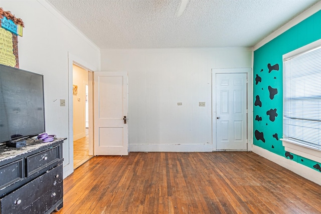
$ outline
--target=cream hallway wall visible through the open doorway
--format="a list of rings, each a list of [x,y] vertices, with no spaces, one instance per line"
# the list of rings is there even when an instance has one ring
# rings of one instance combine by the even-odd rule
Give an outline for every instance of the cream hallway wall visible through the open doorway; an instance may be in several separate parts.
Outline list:
[[[86,85],[88,71],[76,65],[73,66],[73,85],[78,88],[73,94],[73,130],[74,141],[86,136]]]

